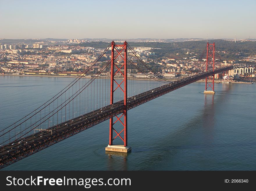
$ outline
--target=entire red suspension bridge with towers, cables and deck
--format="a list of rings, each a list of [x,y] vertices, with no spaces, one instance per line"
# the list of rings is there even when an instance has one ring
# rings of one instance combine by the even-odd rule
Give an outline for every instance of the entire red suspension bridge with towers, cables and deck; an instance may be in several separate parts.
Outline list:
[[[214,75],[233,69],[215,62],[215,44],[207,42],[201,71],[170,81],[153,71],[127,42],[111,42],[98,58],[58,94],[22,119],[0,129],[0,169],[108,119],[106,151],[129,152],[127,110],[185,85],[205,79],[205,93],[214,92]],[[102,61],[109,54],[108,61]],[[91,78],[85,76],[94,71]],[[110,71],[111,78],[104,77]],[[137,83],[129,75],[141,72]]]

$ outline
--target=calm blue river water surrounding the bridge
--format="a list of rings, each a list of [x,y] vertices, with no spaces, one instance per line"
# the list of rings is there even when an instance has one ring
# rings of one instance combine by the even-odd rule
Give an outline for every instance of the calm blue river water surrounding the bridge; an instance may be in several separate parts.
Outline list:
[[[1,128],[72,79],[0,76]],[[193,83],[128,112],[127,156],[106,154],[109,121],[4,170],[256,170],[255,84]]]

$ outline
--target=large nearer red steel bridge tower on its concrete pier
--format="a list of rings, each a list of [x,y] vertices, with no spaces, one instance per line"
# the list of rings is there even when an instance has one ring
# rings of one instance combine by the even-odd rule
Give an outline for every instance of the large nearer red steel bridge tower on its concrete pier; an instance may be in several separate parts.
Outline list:
[[[115,64],[115,59],[119,57],[124,62],[118,66]],[[123,76],[123,80],[116,80],[115,76]],[[120,79],[120,78],[119,78]],[[115,86],[115,88],[114,88]],[[123,93],[124,104],[123,113],[121,116],[114,116],[110,118],[109,122],[109,145],[105,148],[105,151],[114,151],[128,153],[131,151],[131,146],[127,145],[127,42],[122,45],[111,43],[111,85],[110,85],[110,104],[112,109],[115,109],[114,105],[114,93],[116,90],[120,90]],[[118,94],[119,95],[119,94]],[[120,100],[121,101],[121,100]],[[118,104],[119,106],[119,104]],[[117,107],[118,107],[117,106]],[[123,119],[122,119],[123,118]],[[121,131],[116,130],[113,126],[116,123],[121,123],[123,126]],[[113,136],[113,132],[115,133]],[[113,140],[120,138],[123,141],[123,145],[113,145]]]

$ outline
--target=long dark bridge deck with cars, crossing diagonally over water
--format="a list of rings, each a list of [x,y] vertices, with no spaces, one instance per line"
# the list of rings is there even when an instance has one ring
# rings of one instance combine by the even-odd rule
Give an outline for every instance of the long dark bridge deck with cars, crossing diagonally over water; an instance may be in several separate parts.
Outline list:
[[[214,72],[202,72],[200,74],[189,76],[172,83],[167,83],[166,85],[143,92],[135,95],[134,97],[129,97],[127,99],[127,109],[132,109],[185,85],[232,68],[233,66],[229,66],[217,69]],[[51,130],[52,132],[38,131],[33,135],[29,135],[21,140],[17,140],[5,145],[4,149],[0,148],[0,169],[83,130],[106,121],[111,117],[121,114],[123,112],[123,105],[123,101],[113,103],[93,112],[86,113],[83,116],[80,115],[79,117],[58,124],[57,126],[48,128],[48,130]]]

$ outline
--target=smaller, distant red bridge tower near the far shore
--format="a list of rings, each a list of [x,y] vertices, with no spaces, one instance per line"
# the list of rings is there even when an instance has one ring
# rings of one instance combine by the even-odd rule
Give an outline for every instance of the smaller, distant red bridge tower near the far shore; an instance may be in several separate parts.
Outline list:
[[[206,53],[206,72],[212,67],[214,71],[215,61],[215,43],[209,44],[207,42],[207,53]],[[215,94],[214,91],[214,75],[205,78],[205,91],[206,94]]]

